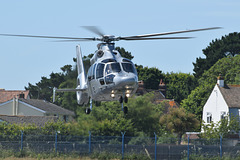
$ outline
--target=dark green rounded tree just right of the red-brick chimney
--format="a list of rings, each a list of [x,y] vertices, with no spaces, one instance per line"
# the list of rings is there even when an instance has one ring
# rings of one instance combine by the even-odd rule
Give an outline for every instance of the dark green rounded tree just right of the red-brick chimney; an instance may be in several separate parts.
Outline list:
[[[197,86],[197,79],[186,73],[167,73],[164,75],[167,86],[166,98],[180,103]]]

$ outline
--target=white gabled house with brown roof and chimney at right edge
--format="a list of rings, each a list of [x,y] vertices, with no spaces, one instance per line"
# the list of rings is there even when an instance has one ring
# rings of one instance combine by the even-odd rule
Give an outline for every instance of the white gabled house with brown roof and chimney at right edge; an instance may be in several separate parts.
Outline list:
[[[219,76],[217,84],[203,107],[204,123],[217,123],[226,116],[239,117],[239,114],[240,85],[226,85],[224,78]]]

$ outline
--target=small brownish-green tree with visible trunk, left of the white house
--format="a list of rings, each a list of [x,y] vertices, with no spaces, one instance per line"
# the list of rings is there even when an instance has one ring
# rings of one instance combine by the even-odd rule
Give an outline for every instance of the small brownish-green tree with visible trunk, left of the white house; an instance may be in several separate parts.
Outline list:
[[[200,123],[192,113],[187,113],[184,108],[170,108],[169,112],[160,118],[160,124],[166,129],[178,135],[178,143],[181,143],[185,132],[199,129]]]

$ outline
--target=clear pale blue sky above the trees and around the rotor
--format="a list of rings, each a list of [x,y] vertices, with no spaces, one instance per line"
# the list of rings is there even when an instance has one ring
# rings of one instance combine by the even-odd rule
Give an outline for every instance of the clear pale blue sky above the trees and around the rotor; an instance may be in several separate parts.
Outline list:
[[[188,40],[116,42],[132,53],[134,63],[165,73],[193,73],[192,62],[204,57],[202,49],[212,40],[239,32],[239,8],[235,0],[8,0],[0,1],[0,33],[94,37],[80,26],[98,26],[116,36],[223,27],[178,35],[196,37]],[[77,44],[88,55],[97,42],[0,37],[0,88],[22,90],[66,64],[73,65]]]

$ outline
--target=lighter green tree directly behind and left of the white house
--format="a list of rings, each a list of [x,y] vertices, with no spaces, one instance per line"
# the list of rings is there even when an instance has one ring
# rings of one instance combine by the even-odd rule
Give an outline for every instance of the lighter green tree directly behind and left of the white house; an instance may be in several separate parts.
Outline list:
[[[191,92],[187,99],[182,101],[181,106],[188,112],[196,114],[200,120],[203,106],[211,94],[219,74],[224,76],[226,84],[236,84],[238,83],[238,75],[240,74],[239,64],[240,55],[219,60],[208,71],[204,72],[198,80],[199,86]]]

